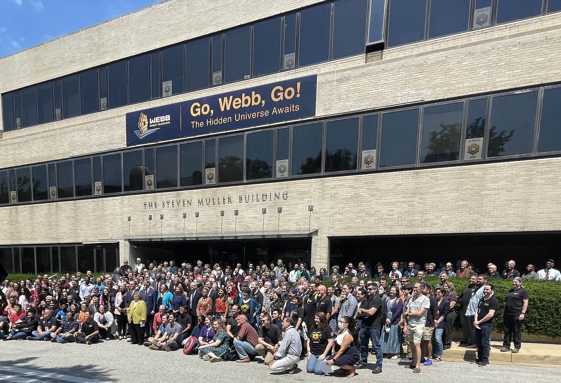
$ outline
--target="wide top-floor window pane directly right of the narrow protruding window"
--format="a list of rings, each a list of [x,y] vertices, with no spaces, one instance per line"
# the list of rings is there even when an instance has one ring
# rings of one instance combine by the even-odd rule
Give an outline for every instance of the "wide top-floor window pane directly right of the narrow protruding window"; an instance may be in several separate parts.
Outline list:
[[[392,0],[388,17],[388,47],[425,38],[426,0]]]

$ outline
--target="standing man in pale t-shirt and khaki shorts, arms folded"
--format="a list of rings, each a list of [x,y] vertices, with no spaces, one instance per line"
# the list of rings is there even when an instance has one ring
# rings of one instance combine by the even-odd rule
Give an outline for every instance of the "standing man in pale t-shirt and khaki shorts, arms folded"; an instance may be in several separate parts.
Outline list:
[[[423,295],[423,284],[413,284],[413,298],[407,304],[404,314],[406,326],[404,333],[407,341],[412,345],[413,363],[405,368],[412,368],[414,373],[421,372],[421,340],[425,331],[427,310],[430,307],[430,300]]]

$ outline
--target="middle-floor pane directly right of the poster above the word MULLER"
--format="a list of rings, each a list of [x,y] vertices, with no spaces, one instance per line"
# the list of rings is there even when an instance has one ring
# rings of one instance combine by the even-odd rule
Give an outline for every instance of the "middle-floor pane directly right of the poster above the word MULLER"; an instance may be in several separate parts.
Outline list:
[[[243,135],[218,139],[218,182],[243,180]]]

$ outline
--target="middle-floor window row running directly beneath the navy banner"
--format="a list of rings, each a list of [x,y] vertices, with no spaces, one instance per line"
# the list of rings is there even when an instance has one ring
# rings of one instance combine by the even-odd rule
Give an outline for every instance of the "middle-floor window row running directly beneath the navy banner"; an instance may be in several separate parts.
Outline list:
[[[0,204],[561,152],[540,87],[0,170]]]

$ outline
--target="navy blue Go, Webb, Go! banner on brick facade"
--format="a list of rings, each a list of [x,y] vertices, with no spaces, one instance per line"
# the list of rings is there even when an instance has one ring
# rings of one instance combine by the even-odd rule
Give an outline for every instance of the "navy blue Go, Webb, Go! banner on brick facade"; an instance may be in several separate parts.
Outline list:
[[[127,113],[127,146],[315,116],[317,76]]]

